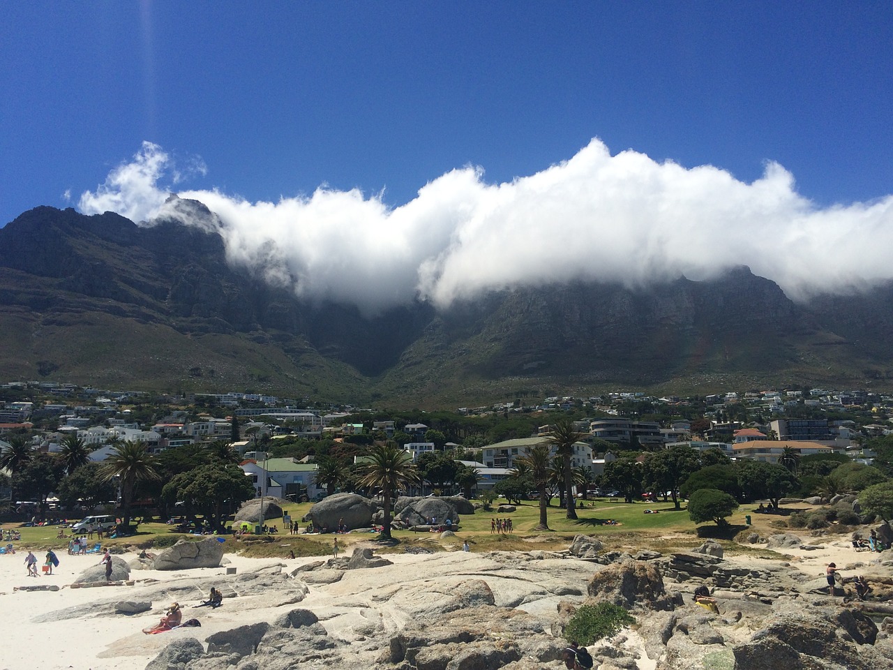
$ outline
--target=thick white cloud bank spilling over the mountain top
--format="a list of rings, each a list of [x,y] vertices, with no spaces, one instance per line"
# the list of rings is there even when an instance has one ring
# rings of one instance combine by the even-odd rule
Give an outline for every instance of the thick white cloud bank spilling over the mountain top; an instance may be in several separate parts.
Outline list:
[[[95,192],[85,214],[197,222],[176,200],[171,157],[144,143]],[[893,196],[818,207],[792,175],[767,163],[752,183],[710,165],[611,155],[593,139],[571,159],[511,182],[480,169],[447,172],[405,205],[358,189],[251,203],[219,190],[180,191],[206,205],[230,261],[374,314],[414,298],[435,306],[513,286],[705,279],[747,264],[795,299],[846,293],[893,278]]]

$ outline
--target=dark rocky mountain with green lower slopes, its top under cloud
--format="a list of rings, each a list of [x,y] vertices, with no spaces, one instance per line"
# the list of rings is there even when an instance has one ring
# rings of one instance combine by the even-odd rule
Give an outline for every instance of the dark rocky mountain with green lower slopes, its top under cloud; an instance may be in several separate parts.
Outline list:
[[[454,406],[893,378],[891,286],[798,305],[742,266],[713,281],[518,288],[366,319],[231,266],[213,214],[181,204],[198,225],[38,207],[0,229],[0,379]]]

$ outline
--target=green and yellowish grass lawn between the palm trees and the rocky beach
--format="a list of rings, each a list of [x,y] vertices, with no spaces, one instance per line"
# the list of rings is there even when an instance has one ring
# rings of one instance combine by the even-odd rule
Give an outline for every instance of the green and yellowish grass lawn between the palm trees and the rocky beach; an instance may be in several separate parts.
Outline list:
[[[691,549],[697,547],[703,538],[697,533],[696,526],[689,519],[689,513],[684,504],[679,510],[673,509],[672,502],[651,503],[623,503],[611,502],[601,498],[588,501],[587,507],[578,508],[576,521],[568,520],[563,508],[553,505],[548,510],[548,523],[550,531],[534,531],[539,523],[538,503],[535,501],[524,502],[516,506],[516,511],[510,513],[513,523],[512,534],[494,534],[490,532],[490,519],[497,515],[496,507],[499,501],[493,504],[493,511],[478,510],[474,515],[460,517],[459,530],[455,538],[441,539],[438,533],[418,533],[410,531],[393,532],[395,540],[393,546],[382,546],[380,553],[392,551],[403,552],[408,547],[420,547],[431,550],[457,550],[462,546],[463,540],[468,540],[472,551],[488,550],[531,550],[531,549],[565,549],[577,534],[593,535],[605,542],[609,549],[635,551],[638,549],[654,549],[668,552]],[[288,504],[284,506],[287,514],[293,519],[300,519],[312,507],[312,503]],[[780,517],[755,515],[755,505],[747,505],[739,508],[735,515],[729,518],[732,525],[730,532],[722,534],[719,540],[723,544],[731,545],[730,537],[736,532],[747,528],[745,515],[751,515],[754,522],[752,526],[755,532],[779,532],[776,530],[783,523]],[[656,509],[659,514],[644,514],[646,509]],[[606,525],[605,521],[613,519],[617,525]],[[774,523],[773,523],[774,522]],[[268,522],[275,523],[275,522]],[[279,523],[281,526],[281,522]],[[63,552],[68,546],[68,533],[65,539],[56,537],[58,526],[43,526],[36,528],[21,527],[18,523],[4,523],[4,529],[16,528],[21,532],[21,542],[15,542],[16,550],[32,549],[46,551],[46,549],[61,549]],[[713,523],[700,526],[708,534],[714,534]],[[66,529],[67,530],[67,529]],[[233,536],[226,536],[226,551],[238,552],[249,557],[288,557],[290,551],[294,551],[296,557],[326,556],[330,554],[332,538],[334,535],[288,535],[280,533],[274,535],[246,535],[242,540],[236,540]],[[124,548],[162,549],[171,546],[181,538],[196,538],[198,536],[184,533],[171,532],[171,526],[166,523],[141,523],[136,535],[115,540],[103,540],[104,546]],[[342,552],[351,545],[361,542],[377,540],[378,535],[371,532],[351,532],[346,535],[338,535],[338,543],[342,546]],[[739,547],[739,550],[741,548]]]

